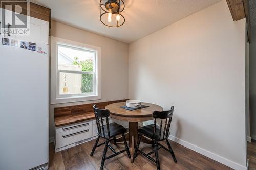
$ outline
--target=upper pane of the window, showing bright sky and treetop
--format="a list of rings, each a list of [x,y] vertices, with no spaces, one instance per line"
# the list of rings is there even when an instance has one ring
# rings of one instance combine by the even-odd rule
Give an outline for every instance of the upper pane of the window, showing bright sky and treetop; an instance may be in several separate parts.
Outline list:
[[[58,69],[94,71],[95,52],[58,45]]]

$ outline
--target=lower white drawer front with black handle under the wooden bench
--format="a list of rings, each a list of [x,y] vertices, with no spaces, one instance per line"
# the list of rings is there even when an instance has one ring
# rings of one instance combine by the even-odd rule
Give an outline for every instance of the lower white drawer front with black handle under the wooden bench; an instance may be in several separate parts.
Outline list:
[[[93,134],[92,125],[80,127],[66,132],[56,133],[56,148],[91,138]]]

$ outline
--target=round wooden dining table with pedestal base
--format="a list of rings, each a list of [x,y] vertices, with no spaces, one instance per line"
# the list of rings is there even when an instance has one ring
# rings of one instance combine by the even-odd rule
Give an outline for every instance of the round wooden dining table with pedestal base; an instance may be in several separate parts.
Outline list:
[[[152,103],[142,103],[142,105],[148,106],[145,108],[140,108],[136,110],[126,110],[121,108],[121,106],[125,106],[125,102],[113,103],[105,107],[105,109],[110,110],[110,117],[116,120],[122,120],[129,122],[129,133],[125,135],[126,139],[129,139],[129,147],[131,147],[131,163],[134,161],[134,148],[138,141],[138,124],[139,122],[153,120],[152,113],[154,111],[163,111],[161,106],[152,104]],[[117,138],[116,142],[122,142],[122,138]],[[142,138],[141,142],[152,144],[151,140],[146,138]]]

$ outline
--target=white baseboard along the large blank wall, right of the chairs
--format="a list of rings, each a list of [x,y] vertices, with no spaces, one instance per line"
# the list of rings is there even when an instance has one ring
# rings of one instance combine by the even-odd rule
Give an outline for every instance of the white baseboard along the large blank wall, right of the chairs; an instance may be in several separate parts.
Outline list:
[[[238,164],[236,162],[233,162],[231,160],[223,158],[223,157],[221,157],[221,156],[219,156],[217,154],[211,153],[211,152],[209,152],[209,151],[207,151],[207,150],[205,150],[203,148],[200,148],[200,147],[198,147],[198,146],[196,146],[194,144],[191,144],[191,143],[188,143],[188,142],[186,142],[186,141],[184,141],[182,139],[176,138],[174,136],[170,135],[169,139],[174,141],[174,142],[176,142],[176,143],[179,143],[179,144],[183,145],[186,148],[189,148],[189,149],[191,149],[193,151],[196,151],[196,152],[198,152],[198,153],[200,153],[200,154],[202,154],[202,155],[204,155],[204,156],[206,156],[208,158],[211,158],[211,159],[213,159],[213,160],[215,160],[217,162],[220,162],[220,163],[222,163],[222,164],[224,164],[224,165],[226,165],[228,167],[231,167],[232,169],[247,170],[247,168],[248,168],[248,167],[242,166],[242,165],[240,165],[240,164]]]

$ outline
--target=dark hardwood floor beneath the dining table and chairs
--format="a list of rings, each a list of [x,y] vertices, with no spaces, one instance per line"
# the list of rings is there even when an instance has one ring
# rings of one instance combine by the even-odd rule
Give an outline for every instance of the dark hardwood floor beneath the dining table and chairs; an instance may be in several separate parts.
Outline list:
[[[90,156],[93,144],[95,140],[92,140],[87,143],[83,143],[77,145],[76,147],[63,150],[61,152],[54,152],[54,143],[50,143],[50,162],[49,162],[49,169],[56,170],[56,169],[99,169],[100,162],[102,158],[103,146],[96,148],[96,151],[93,157]],[[101,140],[102,142],[102,140]],[[231,169],[217,161],[214,161],[210,158],[207,158],[195,151],[189,150],[182,145],[170,141],[172,144],[173,150],[175,152],[176,158],[178,163],[174,163],[172,156],[170,153],[165,151],[164,149],[159,150],[159,158],[161,169],[172,169],[172,170],[179,170],[179,169],[189,169],[189,170],[205,170],[205,169]],[[167,147],[167,145],[164,143]],[[113,148],[116,151],[124,149],[124,144],[117,144],[115,146],[112,144]],[[151,151],[151,145],[141,143],[140,148],[143,151]],[[251,145],[250,154],[252,155],[250,159],[254,160],[252,163],[252,168],[255,167],[255,151],[256,146]],[[108,154],[112,154],[110,150],[108,150]],[[254,155],[254,158],[253,158]],[[105,169],[114,170],[114,169],[145,169],[151,170],[156,169],[156,165],[152,163],[150,160],[146,159],[145,157],[138,155],[135,159],[134,163],[130,163],[130,159],[126,156],[126,153],[120,154],[116,157],[108,159],[105,161]],[[255,169],[256,170],[256,169]]]

